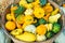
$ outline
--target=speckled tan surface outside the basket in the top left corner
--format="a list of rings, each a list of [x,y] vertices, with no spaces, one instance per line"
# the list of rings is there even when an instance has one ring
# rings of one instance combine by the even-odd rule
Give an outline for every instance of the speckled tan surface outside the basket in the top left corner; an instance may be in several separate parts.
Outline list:
[[[13,2],[14,0],[0,0],[0,13],[3,13],[8,5],[10,5]]]

